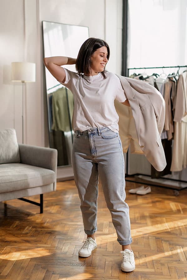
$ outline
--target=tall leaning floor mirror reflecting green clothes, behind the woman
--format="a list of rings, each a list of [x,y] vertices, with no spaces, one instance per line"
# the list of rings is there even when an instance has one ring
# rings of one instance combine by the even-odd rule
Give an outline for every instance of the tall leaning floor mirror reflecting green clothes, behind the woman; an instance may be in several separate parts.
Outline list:
[[[68,56],[76,58],[83,42],[89,38],[85,26],[43,21],[44,56]],[[75,71],[74,65],[65,68]],[[58,150],[58,166],[71,165],[71,149],[74,132],[72,115],[73,94],[62,86],[45,68],[48,112],[49,143]]]

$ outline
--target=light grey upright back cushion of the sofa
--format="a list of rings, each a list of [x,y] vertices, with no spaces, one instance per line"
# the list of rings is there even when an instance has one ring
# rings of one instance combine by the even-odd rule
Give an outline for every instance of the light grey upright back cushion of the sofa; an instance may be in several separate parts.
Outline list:
[[[13,128],[0,130],[0,164],[20,162],[16,131]]]

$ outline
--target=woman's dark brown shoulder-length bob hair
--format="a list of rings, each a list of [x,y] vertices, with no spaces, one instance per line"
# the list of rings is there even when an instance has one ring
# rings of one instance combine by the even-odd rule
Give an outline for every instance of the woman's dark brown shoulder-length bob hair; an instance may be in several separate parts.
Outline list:
[[[79,54],[77,56],[77,61],[75,65],[77,72],[84,73],[85,75],[91,73],[91,56],[94,53],[94,51],[96,51],[96,49],[99,49],[103,46],[107,48],[108,51],[107,59],[109,59],[110,49],[108,44],[104,40],[97,39],[97,38],[87,39],[80,47]],[[103,72],[101,73],[103,77],[106,79],[105,67]]]

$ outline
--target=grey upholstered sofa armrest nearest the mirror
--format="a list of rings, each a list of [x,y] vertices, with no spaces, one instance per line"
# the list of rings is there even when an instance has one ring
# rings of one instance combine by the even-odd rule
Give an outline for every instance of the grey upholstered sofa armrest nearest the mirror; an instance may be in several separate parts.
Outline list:
[[[57,150],[45,147],[19,144],[21,163],[57,170]]]

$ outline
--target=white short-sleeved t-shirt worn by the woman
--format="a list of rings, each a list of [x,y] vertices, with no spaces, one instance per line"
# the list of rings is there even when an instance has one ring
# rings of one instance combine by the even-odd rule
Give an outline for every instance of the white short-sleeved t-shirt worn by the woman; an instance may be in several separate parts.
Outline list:
[[[119,116],[114,106],[114,99],[124,102],[127,98],[119,78],[105,71],[85,76],[65,69],[65,82],[74,96],[73,129],[81,132],[89,128],[107,126],[114,132],[119,131]]]

